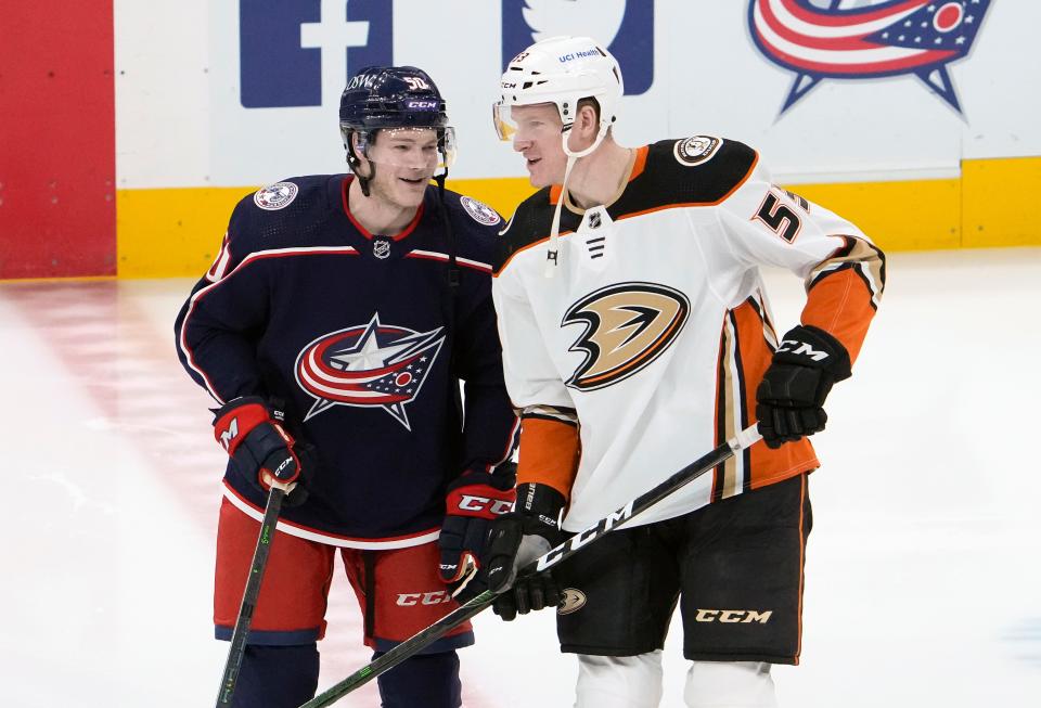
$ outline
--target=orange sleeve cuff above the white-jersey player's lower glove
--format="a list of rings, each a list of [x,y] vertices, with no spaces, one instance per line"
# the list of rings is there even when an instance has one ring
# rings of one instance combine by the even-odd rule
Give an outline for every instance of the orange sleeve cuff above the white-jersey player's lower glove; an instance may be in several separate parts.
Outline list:
[[[520,422],[517,484],[549,485],[567,499],[578,473],[578,427],[540,417]]]

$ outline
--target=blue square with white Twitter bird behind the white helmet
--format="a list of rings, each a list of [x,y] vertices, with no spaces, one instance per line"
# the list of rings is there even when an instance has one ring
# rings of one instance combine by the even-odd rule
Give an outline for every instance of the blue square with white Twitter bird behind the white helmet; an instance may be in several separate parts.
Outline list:
[[[627,95],[654,82],[652,0],[502,0],[502,68],[532,42],[586,35],[607,47],[621,66]]]

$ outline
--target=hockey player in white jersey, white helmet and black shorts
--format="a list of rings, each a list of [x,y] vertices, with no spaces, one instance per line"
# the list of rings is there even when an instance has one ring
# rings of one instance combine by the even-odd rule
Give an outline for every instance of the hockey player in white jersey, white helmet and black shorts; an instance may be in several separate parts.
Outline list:
[[[517,509],[496,525],[489,574],[511,575],[757,421],[764,442],[576,554],[555,583],[522,578],[496,610],[558,605],[576,705],[650,707],[679,604],[686,705],[774,706],[770,667],[800,652],[819,466],[807,436],[851,373],[884,256],[773,184],[740,142],[619,145],[621,93],[614,57],[583,37],[538,42],[502,76],[500,137],[541,190],[503,231],[494,269],[523,430]],[[801,322],[781,336],[761,265],[806,283]]]

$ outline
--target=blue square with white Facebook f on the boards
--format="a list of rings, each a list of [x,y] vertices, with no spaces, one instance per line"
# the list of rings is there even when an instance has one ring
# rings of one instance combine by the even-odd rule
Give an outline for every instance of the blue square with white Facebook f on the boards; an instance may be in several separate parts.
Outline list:
[[[347,77],[394,63],[393,0],[240,0],[246,108],[332,105]]]

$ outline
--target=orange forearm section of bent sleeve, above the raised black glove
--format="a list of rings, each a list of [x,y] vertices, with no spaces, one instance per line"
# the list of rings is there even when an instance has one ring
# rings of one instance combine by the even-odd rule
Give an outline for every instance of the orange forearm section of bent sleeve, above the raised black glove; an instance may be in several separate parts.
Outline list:
[[[841,342],[850,362],[857,361],[874,317],[871,292],[853,269],[821,278],[810,288],[802,309],[802,324],[820,327]]]

